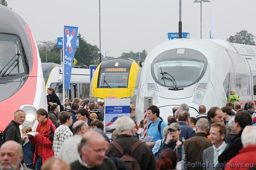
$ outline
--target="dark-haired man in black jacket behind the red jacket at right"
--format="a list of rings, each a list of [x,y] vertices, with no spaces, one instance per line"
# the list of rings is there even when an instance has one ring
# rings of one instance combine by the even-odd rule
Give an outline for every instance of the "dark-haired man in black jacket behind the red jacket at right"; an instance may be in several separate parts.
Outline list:
[[[238,135],[231,141],[230,145],[223,151],[218,157],[219,163],[228,162],[231,158],[239,153],[243,145],[241,142],[241,134],[245,126],[250,126],[252,124],[252,117],[246,111],[240,111],[235,117],[235,130]]]

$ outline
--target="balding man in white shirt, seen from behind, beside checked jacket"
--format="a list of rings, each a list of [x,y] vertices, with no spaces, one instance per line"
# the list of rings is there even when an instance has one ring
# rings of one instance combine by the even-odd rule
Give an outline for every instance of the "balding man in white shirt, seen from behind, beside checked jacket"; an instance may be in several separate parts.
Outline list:
[[[73,126],[74,137],[65,141],[60,149],[59,157],[71,163],[78,159],[78,143],[81,142],[82,135],[89,131],[89,126],[84,120],[78,120]]]

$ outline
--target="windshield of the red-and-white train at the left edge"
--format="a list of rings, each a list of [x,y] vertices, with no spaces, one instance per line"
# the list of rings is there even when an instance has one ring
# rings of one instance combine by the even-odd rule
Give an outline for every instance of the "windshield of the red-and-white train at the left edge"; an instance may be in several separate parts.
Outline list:
[[[0,77],[25,73],[19,38],[0,33]]]

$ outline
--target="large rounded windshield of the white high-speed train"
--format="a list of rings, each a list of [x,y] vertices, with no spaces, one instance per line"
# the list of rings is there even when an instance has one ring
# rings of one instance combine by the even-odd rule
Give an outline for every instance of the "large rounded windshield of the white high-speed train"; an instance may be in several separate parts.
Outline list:
[[[177,50],[173,49],[157,56],[151,66],[154,80],[162,86],[173,88],[197,83],[206,71],[207,59],[199,51],[187,49],[186,52],[177,55]]]

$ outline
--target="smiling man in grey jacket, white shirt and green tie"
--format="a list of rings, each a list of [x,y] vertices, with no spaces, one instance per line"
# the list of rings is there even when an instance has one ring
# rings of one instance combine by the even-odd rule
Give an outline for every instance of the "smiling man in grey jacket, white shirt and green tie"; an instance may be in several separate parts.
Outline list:
[[[215,170],[219,166],[218,157],[227,147],[226,142],[224,142],[225,135],[226,127],[223,123],[216,122],[211,124],[210,140],[212,146],[203,151],[203,163],[208,165],[204,167],[204,170]]]

